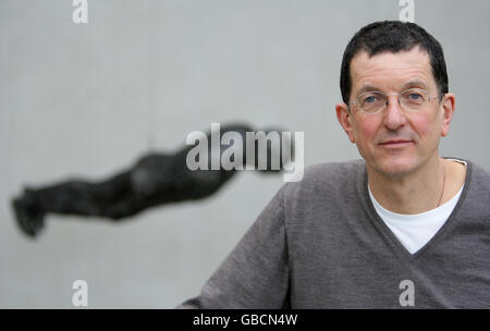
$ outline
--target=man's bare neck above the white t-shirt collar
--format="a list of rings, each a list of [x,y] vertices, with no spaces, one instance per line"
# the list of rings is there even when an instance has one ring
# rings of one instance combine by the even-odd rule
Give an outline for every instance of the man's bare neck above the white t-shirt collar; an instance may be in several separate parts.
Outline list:
[[[451,199],[464,184],[464,167],[451,163],[436,156],[403,176],[387,176],[368,167],[369,188],[377,201],[392,212],[425,212]]]

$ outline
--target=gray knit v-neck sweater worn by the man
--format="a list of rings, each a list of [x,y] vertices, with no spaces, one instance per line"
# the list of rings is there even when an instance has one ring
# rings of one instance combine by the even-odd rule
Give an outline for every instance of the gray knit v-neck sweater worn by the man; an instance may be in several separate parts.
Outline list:
[[[467,162],[460,201],[409,254],[377,214],[363,160],[285,184],[180,308],[490,308],[490,174]]]

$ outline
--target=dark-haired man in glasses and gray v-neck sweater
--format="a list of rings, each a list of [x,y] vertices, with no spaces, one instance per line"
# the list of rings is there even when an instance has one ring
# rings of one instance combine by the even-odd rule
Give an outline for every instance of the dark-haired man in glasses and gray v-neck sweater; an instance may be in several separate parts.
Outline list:
[[[284,185],[181,308],[490,308],[490,174],[439,156],[455,109],[439,42],[372,23],[346,47],[341,90],[364,160]]]

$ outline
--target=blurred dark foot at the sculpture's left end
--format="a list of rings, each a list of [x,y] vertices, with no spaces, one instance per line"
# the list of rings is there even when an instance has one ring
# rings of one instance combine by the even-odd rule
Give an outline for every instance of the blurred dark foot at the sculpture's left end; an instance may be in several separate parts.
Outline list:
[[[35,237],[45,224],[45,212],[35,206],[29,206],[25,198],[14,198],[12,207],[19,228],[24,234]]]

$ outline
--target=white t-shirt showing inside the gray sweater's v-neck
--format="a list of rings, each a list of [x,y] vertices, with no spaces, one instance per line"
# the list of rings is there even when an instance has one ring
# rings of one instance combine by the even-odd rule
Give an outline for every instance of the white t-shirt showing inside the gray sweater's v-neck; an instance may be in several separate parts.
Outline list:
[[[466,166],[465,161],[454,161]],[[383,208],[376,200],[368,185],[369,196],[379,217],[411,254],[415,254],[424,247],[436,235],[439,229],[444,225],[445,221],[449,219],[451,212],[453,212],[454,207],[456,207],[456,204],[460,200],[463,187],[453,198],[451,198],[451,200],[436,209],[416,214],[402,214]]]

